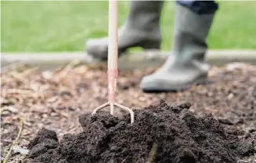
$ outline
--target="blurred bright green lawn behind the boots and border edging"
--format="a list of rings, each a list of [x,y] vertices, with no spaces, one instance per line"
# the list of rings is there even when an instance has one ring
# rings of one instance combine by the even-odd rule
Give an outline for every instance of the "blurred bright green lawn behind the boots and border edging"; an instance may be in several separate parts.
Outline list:
[[[256,2],[219,2],[210,48],[256,48]],[[107,34],[108,2],[2,2],[2,51],[84,51],[85,41]],[[118,23],[128,2],[118,2]],[[161,19],[162,49],[171,48],[175,2]]]

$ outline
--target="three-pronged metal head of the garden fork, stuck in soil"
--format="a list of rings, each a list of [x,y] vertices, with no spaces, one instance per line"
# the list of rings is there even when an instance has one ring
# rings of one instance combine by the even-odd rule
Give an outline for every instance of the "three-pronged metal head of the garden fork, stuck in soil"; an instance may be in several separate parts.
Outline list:
[[[99,107],[95,108],[93,111],[92,111],[92,115],[95,115],[97,111],[103,109],[103,108],[106,108],[107,106],[110,106],[110,114],[111,115],[114,115],[114,106],[117,106],[118,108],[122,108],[126,111],[128,111],[131,115],[131,123],[134,122],[134,112],[132,111],[131,108],[128,108],[128,107],[125,107],[124,105],[120,105],[120,104],[117,104],[117,103],[110,103],[110,102],[106,102],[105,104],[103,105],[100,105]]]

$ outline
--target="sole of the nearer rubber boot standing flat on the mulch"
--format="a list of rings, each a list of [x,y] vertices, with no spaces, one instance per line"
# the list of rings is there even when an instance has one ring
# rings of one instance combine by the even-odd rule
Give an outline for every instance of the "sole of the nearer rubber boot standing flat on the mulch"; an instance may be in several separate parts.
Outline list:
[[[188,83],[185,85],[168,85],[168,83],[165,83],[165,82],[149,83],[149,84],[146,84],[146,87],[141,87],[141,89],[146,93],[178,92],[178,91],[188,90],[194,84],[205,83],[206,80],[207,80],[207,76],[200,76],[200,78],[193,81],[193,83]]]

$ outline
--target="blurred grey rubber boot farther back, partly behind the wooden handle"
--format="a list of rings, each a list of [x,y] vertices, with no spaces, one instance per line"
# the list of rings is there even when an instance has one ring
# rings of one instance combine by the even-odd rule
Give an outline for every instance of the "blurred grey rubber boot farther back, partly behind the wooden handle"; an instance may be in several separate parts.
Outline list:
[[[118,30],[118,53],[128,48],[159,49],[160,13],[164,1],[131,1],[128,18]],[[108,38],[88,40],[85,49],[88,55],[99,60],[107,59]],[[119,55],[120,56],[120,55]]]

